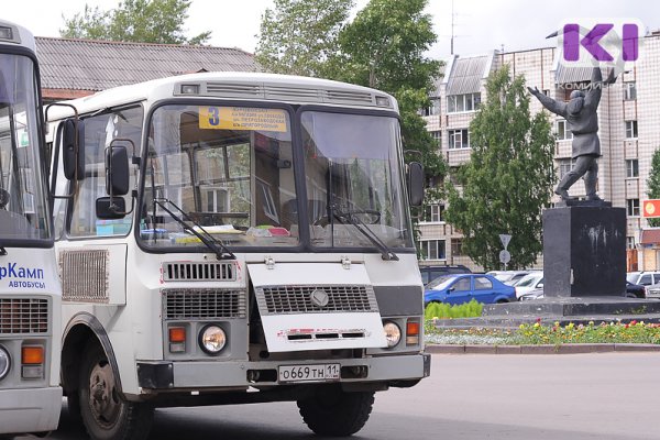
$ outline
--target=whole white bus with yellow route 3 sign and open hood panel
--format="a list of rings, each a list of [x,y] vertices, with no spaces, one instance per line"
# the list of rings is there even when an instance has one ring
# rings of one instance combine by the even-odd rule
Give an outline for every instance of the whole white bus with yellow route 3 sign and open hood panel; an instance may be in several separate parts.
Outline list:
[[[68,103],[85,164],[57,182],[62,377],[92,439],[145,438],[160,406],[282,400],[349,436],[375,392],[428,375],[424,178],[393,97],[206,73]]]

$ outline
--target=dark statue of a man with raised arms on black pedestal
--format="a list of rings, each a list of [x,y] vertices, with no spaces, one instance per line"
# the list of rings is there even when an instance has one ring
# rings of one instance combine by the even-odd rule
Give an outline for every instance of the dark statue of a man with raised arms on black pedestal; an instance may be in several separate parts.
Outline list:
[[[586,94],[582,90],[573,90],[569,102],[558,101],[541,94],[538,88],[528,87],[531,95],[551,112],[563,117],[569,130],[573,133],[573,158],[575,166],[568,172],[554,194],[562,200],[569,200],[569,188],[584,176],[584,187],[587,200],[601,200],[596,195],[596,182],[598,176],[598,157],[601,157],[601,141],[598,140],[598,116],[596,110],[601,101],[603,87],[616,81],[614,70],[605,81],[600,67],[594,67],[591,84]]]

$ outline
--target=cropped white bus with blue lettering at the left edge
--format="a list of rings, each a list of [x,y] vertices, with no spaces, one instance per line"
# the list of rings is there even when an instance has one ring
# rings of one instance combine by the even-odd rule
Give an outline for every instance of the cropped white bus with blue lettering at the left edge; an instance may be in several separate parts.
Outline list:
[[[40,94],[34,37],[0,20],[0,436],[51,431],[62,409],[62,290]]]

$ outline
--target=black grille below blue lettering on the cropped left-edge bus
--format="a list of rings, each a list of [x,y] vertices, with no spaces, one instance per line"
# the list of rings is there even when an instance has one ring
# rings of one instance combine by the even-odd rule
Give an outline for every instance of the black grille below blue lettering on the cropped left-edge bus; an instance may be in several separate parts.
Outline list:
[[[47,332],[47,299],[0,298],[0,334]]]

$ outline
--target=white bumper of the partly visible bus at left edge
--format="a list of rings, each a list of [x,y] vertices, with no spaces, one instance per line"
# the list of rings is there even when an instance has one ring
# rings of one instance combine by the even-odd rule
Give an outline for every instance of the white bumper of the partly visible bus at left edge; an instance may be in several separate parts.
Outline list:
[[[0,389],[0,433],[46,432],[57,429],[62,388]]]

